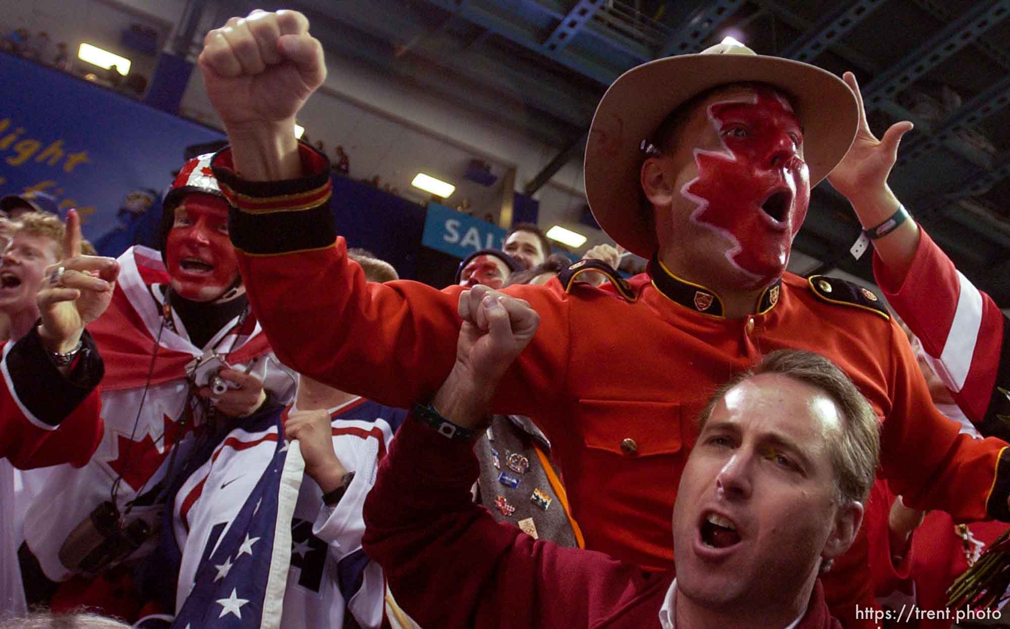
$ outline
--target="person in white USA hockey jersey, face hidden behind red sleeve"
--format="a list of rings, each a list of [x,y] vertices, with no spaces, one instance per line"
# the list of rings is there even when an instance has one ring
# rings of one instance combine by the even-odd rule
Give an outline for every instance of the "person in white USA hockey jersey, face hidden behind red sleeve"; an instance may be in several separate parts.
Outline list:
[[[370,282],[396,279],[393,267],[383,260],[360,254],[352,259]],[[283,424],[283,437],[300,444],[305,476],[297,505],[291,506],[294,518],[292,514],[283,518],[291,523],[294,550],[279,626],[354,624],[378,629],[384,618],[386,588],[381,568],[368,560],[361,547],[362,507],[379,461],[405,416],[405,411],[301,376],[293,407],[275,407],[229,424],[172,499],[175,548],[168,556],[181,554],[176,613],[184,613],[191,593],[211,587],[200,580],[200,574],[207,569],[206,562],[218,562],[214,553],[218,552],[219,527],[232,525],[259,484],[276,450],[276,441],[264,439],[264,434],[278,435]],[[234,482],[228,482],[231,479]],[[264,508],[256,517],[278,521],[276,508]],[[232,560],[237,564],[240,557]],[[251,573],[243,579],[256,582]],[[206,593],[196,595],[192,604],[202,604],[199,597]]]

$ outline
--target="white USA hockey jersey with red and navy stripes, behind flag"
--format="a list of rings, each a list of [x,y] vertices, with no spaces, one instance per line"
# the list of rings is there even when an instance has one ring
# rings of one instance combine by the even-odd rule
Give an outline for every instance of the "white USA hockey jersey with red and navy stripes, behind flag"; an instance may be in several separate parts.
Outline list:
[[[272,609],[269,601],[262,610],[255,604],[236,603],[267,599],[259,591],[242,591],[242,583],[255,590],[251,583],[256,581],[252,575],[243,574],[233,589],[233,596],[228,591],[220,595],[221,599],[210,600],[214,616],[227,604],[230,605],[227,609],[239,606],[231,613],[243,620],[247,619],[242,616],[242,607],[245,614],[263,614],[262,622],[256,625],[261,627],[342,627],[347,611],[362,627],[382,624],[385,585],[382,569],[365,556],[361,547],[365,531],[362,506],[375,481],[378,462],[406,416],[405,411],[361,397],[331,409],[333,449],[343,466],[355,472],[340,502],[333,508],[325,506],[315,482],[309,477],[300,478],[297,500],[290,512],[286,513],[284,502],[279,501],[282,508],[276,514],[267,511],[252,516],[276,521],[274,548],[263,543],[258,548],[257,542],[247,541],[255,539],[252,534],[234,537],[239,548],[233,552],[222,548],[227,545],[222,540],[228,538],[229,532],[234,533],[231,531],[234,526],[239,526],[236,522],[248,526],[242,510],[245,508],[247,512],[248,497],[255,495],[261,479],[270,473],[279,440],[283,440],[287,414],[288,410],[260,414],[232,430],[176,495],[172,532],[176,550],[182,555],[176,596],[176,610],[180,614],[177,625],[185,626],[181,619],[194,589],[203,589],[196,585],[201,570],[212,568],[206,573],[214,582],[223,582],[228,571],[241,569],[243,555],[258,553],[272,556],[271,571],[287,572],[283,611]],[[289,452],[288,457],[291,456]],[[300,454],[297,456],[300,458]],[[282,531],[285,522],[290,530]],[[242,544],[247,546],[245,550]],[[283,544],[290,544],[290,548],[279,547]],[[290,561],[287,566],[285,555]]]

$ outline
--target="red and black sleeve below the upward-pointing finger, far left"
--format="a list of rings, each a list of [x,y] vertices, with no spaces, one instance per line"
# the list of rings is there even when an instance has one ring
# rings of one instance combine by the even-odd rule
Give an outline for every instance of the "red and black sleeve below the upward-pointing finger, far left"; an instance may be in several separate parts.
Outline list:
[[[91,337],[68,377],[45,355],[32,329],[3,346],[0,456],[21,469],[71,463],[81,467],[102,438],[98,382],[103,366]]]

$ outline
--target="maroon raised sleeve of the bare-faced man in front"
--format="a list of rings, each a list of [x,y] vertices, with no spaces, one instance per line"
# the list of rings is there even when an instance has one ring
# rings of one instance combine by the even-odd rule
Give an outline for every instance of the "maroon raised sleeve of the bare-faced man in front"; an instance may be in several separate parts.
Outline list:
[[[473,444],[408,418],[365,501],[365,552],[420,626],[584,627],[649,578],[495,522],[471,500],[478,474]]]

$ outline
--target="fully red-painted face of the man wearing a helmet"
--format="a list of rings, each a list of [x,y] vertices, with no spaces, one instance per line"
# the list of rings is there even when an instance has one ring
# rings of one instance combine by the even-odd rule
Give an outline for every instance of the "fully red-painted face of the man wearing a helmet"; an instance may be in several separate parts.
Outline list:
[[[238,277],[228,239],[228,204],[209,194],[188,194],[176,207],[165,245],[172,289],[193,301],[213,301]]]

